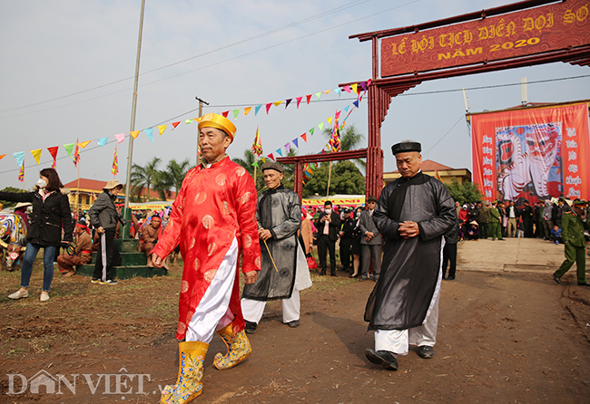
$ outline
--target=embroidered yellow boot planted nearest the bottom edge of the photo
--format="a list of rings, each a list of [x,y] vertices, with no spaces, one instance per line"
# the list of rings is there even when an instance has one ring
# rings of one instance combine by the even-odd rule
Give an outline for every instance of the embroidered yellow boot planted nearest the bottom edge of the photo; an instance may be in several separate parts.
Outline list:
[[[161,404],[184,404],[202,392],[202,362],[209,344],[190,341],[181,342],[178,347],[178,379],[175,385],[164,387]]]

